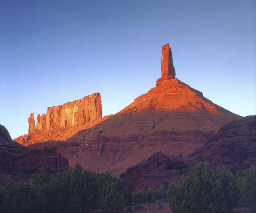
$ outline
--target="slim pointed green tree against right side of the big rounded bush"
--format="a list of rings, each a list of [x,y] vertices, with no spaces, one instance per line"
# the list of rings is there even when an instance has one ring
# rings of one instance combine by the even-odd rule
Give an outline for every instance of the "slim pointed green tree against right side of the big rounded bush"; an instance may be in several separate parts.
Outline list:
[[[231,210],[238,204],[239,191],[236,186],[236,178],[230,173],[226,166],[222,166],[220,173],[221,184],[223,186],[223,208]]]

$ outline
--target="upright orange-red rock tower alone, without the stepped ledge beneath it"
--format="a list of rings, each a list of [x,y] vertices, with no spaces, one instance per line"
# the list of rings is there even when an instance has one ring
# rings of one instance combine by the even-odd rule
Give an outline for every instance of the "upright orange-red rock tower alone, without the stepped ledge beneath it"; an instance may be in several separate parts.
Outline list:
[[[175,68],[173,66],[173,54],[169,44],[165,44],[162,47],[162,58],[161,58],[161,77],[169,75],[171,79],[175,79]]]

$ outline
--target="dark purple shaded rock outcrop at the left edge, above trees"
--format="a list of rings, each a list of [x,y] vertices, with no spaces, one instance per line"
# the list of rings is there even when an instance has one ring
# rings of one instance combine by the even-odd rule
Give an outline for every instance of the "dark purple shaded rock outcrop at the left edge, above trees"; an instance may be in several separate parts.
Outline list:
[[[7,129],[0,125],[0,185],[27,181],[40,167],[49,173],[63,172],[68,160],[57,148],[29,149],[15,141]]]

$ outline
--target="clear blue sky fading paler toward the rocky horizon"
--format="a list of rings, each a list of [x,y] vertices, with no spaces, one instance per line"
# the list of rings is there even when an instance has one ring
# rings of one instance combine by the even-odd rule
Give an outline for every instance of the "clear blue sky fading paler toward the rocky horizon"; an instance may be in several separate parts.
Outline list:
[[[176,77],[256,114],[256,1],[0,0],[0,123],[99,92],[103,116],[155,86],[169,43]]]

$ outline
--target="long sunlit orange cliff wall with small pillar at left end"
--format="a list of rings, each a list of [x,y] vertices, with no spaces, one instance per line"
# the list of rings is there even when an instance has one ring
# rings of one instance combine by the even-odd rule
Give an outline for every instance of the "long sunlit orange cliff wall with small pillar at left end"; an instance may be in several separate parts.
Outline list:
[[[32,114],[34,115],[34,113]],[[101,97],[100,93],[93,93],[63,105],[48,107],[46,115],[37,115],[36,129],[67,128],[69,126],[82,125],[98,118],[102,118]],[[31,125],[33,125],[32,121]],[[32,130],[32,126],[29,126],[29,132]]]

